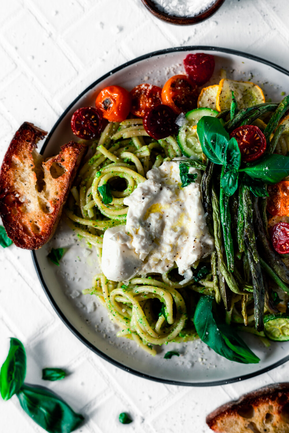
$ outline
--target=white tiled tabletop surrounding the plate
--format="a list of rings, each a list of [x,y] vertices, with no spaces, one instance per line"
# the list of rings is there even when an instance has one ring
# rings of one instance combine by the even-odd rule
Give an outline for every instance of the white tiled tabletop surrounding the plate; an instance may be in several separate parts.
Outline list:
[[[178,45],[215,45],[258,55],[289,68],[289,1],[226,0],[204,23],[162,23],[140,0],[0,0],[0,160],[24,120],[51,129],[92,81],[136,56]],[[86,423],[83,433],[208,433],[205,415],[219,404],[274,381],[288,363],[233,385],[185,388],[129,375],[85,348],[46,299],[29,252],[0,249],[0,364],[8,339],[26,346],[26,381],[41,384],[47,365],[69,367],[49,383]],[[130,412],[133,423],[117,420]],[[43,431],[16,397],[0,401],[0,431]]]

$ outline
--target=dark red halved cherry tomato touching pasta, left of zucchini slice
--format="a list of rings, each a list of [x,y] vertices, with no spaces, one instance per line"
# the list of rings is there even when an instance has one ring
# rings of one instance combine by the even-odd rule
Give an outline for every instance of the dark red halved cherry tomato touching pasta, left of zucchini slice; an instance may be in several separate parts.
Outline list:
[[[175,124],[176,117],[172,108],[159,104],[146,111],[143,126],[149,136],[160,140],[178,131],[178,126]]]

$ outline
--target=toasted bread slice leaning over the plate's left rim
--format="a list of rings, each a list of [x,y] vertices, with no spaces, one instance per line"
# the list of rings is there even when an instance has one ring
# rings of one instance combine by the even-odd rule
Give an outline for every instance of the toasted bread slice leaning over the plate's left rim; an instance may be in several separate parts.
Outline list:
[[[0,216],[16,246],[38,249],[55,231],[86,146],[73,141],[44,161],[36,143],[45,131],[24,122],[0,171]]]

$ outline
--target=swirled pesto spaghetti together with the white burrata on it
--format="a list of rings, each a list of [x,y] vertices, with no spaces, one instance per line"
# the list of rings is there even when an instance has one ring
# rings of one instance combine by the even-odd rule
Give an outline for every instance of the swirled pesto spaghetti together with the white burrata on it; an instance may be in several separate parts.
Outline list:
[[[83,293],[150,355],[198,338],[199,294],[214,295],[200,171],[189,167],[182,187],[176,139],[152,139],[142,119],[108,123],[91,149],[63,216],[97,250],[100,271]]]

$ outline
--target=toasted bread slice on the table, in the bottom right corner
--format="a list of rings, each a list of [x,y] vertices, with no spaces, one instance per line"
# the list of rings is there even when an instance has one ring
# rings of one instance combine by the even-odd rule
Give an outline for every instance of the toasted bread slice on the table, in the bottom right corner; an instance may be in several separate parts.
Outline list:
[[[218,433],[289,433],[289,383],[244,394],[211,412],[206,422]]]

